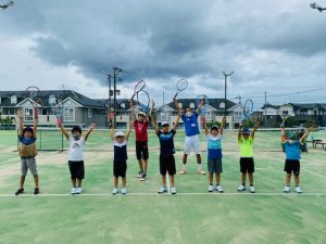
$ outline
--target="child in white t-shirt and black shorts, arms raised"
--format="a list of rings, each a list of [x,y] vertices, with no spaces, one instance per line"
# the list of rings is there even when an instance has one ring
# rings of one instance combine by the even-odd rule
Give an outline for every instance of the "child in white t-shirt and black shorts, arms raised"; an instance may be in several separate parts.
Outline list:
[[[84,146],[88,136],[95,129],[96,124],[92,123],[90,125],[84,138],[82,137],[82,128],[79,126],[73,127],[73,138],[71,138],[70,133],[66,131],[61,121],[58,121],[58,126],[65,136],[66,140],[70,142],[68,166],[73,185],[71,194],[82,194],[82,181],[85,178]]]

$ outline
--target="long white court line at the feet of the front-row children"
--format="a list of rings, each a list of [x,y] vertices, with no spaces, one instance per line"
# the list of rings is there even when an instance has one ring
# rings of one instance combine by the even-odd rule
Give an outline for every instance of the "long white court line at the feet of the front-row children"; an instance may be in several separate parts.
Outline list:
[[[121,195],[121,194],[118,194]],[[72,195],[70,193],[53,193],[53,194],[48,194],[48,193],[40,193],[39,195],[34,195],[33,193],[23,193],[18,196],[15,196],[14,194],[0,194],[0,197],[97,197],[97,196],[111,196],[111,197],[117,197],[118,195],[112,195],[111,193],[83,193],[80,195]],[[159,194],[159,193],[127,193],[126,195],[123,195],[123,197],[126,196],[164,196],[164,195],[171,195],[171,194]],[[302,194],[296,194],[296,193],[281,193],[281,192],[256,192],[256,193],[249,193],[249,192],[224,192],[224,193],[209,193],[209,192],[202,192],[202,193],[190,193],[190,192],[185,192],[185,193],[177,193],[175,196],[213,196],[213,197],[223,197],[223,196],[249,196],[249,197],[254,197],[254,196],[326,196],[326,193],[302,193]]]

